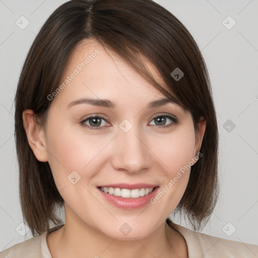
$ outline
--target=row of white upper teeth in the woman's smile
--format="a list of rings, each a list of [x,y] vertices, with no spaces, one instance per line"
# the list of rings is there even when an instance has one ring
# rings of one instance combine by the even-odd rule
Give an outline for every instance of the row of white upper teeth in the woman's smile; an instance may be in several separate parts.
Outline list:
[[[100,187],[100,189],[109,195],[119,196],[123,198],[139,198],[148,195],[154,188],[140,188],[140,189],[120,189],[112,187]]]

